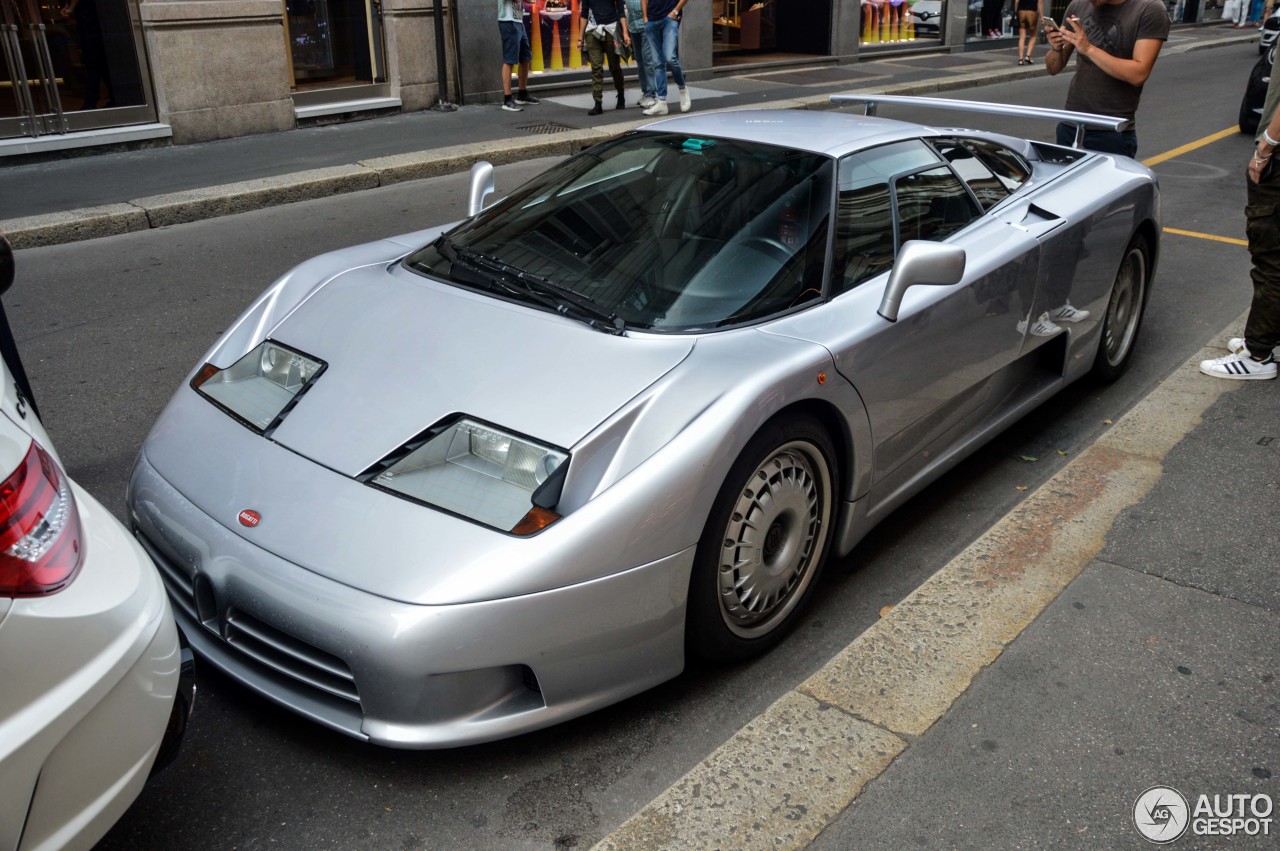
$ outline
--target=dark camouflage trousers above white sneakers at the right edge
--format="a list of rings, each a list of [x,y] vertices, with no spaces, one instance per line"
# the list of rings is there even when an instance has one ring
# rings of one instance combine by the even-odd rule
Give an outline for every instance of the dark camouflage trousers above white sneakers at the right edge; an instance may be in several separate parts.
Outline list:
[[[1251,354],[1270,354],[1280,346],[1280,170],[1262,183],[1248,183],[1244,232],[1253,258],[1253,303],[1244,324]]]

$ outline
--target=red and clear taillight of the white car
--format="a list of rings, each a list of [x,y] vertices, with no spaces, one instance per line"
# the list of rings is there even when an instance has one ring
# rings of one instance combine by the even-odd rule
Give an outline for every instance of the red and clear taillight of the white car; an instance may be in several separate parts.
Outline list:
[[[0,596],[60,591],[81,563],[79,513],[70,482],[35,441],[0,484]]]

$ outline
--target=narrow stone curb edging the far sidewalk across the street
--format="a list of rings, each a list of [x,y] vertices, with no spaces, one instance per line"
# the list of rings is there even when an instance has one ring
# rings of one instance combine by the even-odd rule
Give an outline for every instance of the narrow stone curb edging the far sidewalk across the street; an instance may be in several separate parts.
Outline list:
[[[1239,33],[1222,38],[1180,45],[1170,52],[1206,50],[1257,40],[1257,35]],[[933,95],[938,92],[1005,83],[1027,77],[1039,77],[1046,72],[1032,65],[1002,72],[974,72],[956,74],[923,83],[868,86],[851,88],[854,92],[884,95]],[[750,109],[832,109],[829,95],[803,99],[767,101]],[[742,109],[726,107],[726,109]],[[719,110],[708,110],[719,111]],[[24,216],[0,221],[14,248],[56,246],[81,239],[111,237],[147,228],[163,228],[186,221],[198,221],[216,216],[261,210],[294,201],[323,198],[344,192],[371,189],[404,180],[454,174],[471,168],[476,160],[486,159],[494,165],[521,159],[575,154],[584,147],[602,142],[618,133],[648,124],[652,119],[639,118],[600,127],[567,131],[540,138],[506,138],[443,148],[399,154],[351,165],[312,169],[273,178],[243,180],[223,186],[204,187],[186,192],[136,198],[125,203]]]

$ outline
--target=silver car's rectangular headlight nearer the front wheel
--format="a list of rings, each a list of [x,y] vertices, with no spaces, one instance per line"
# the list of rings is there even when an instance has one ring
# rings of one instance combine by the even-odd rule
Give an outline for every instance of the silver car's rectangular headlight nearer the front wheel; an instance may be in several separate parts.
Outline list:
[[[567,458],[559,449],[463,417],[370,481],[485,526],[531,535],[559,517],[549,509]],[[548,497],[552,490],[557,493]]]

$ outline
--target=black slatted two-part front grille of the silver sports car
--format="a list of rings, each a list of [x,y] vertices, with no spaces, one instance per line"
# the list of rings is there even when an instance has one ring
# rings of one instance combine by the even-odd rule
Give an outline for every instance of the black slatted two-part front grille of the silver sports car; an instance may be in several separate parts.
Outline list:
[[[209,580],[204,576],[193,580],[187,569],[170,559],[146,535],[137,530],[134,534],[160,568],[160,578],[184,628],[202,626],[205,633],[218,639],[221,646],[238,656],[241,664],[259,671],[265,668],[264,673],[269,674],[284,674],[308,690],[323,692],[315,695],[323,703],[337,697],[356,704],[358,709],[360,692],[347,663],[241,609],[230,608],[219,619]]]

